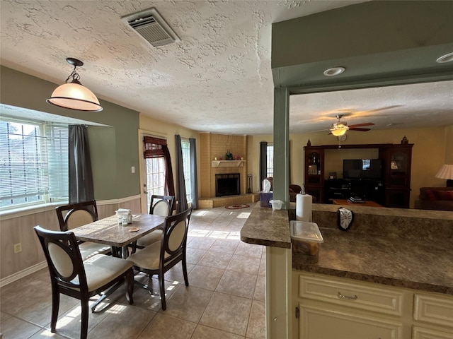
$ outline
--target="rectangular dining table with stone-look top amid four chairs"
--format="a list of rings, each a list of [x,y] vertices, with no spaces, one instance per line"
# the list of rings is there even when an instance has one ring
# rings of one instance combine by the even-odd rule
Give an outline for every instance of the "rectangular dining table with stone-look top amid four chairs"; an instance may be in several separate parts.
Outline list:
[[[122,258],[127,258],[129,254],[128,245],[137,241],[154,230],[160,230],[164,226],[165,217],[155,214],[132,214],[132,223],[122,225],[117,215],[90,222],[89,224],[76,227],[71,230],[77,239],[84,242],[97,242],[107,244],[112,247],[112,254]],[[117,251],[120,249],[120,251]],[[103,292],[101,297],[91,305],[91,311],[96,306],[115,291],[120,284],[110,287]]]

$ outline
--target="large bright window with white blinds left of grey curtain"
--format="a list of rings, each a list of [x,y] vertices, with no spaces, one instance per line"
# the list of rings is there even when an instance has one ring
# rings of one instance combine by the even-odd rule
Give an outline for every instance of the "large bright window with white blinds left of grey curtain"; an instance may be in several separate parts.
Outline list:
[[[68,127],[0,119],[0,208],[68,199]]]

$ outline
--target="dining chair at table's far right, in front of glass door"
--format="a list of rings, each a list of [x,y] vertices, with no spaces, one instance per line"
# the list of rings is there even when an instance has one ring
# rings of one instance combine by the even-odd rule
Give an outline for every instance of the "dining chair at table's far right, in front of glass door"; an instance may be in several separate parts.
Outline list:
[[[175,203],[175,196],[151,196],[151,204],[149,206],[149,214],[161,215],[162,217],[168,217],[173,213],[173,205]],[[153,232],[141,237],[135,244],[132,244],[132,253],[135,253],[136,249],[144,249],[146,246],[159,242],[162,237],[161,230],[154,230]]]

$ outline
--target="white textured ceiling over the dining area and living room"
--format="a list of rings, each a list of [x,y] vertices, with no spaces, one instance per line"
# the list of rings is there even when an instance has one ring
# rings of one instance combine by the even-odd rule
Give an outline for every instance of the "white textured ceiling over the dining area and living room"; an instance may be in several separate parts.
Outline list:
[[[358,2],[1,0],[1,64],[60,84],[75,57],[81,83],[103,100],[196,131],[268,134],[272,23]],[[120,20],[151,7],[180,42],[152,47]],[[338,112],[375,129],[453,124],[452,93],[444,81],[297,95],[290,124],[326,129]]]

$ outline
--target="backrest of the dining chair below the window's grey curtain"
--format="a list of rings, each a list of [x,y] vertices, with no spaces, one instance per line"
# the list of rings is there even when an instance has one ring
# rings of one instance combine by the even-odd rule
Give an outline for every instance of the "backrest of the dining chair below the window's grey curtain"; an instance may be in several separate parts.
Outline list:
[[[55,210],[57,211],[59,229],[62,232],[98,220],[98,206],[96,206],[95,200],[59,206]]]

